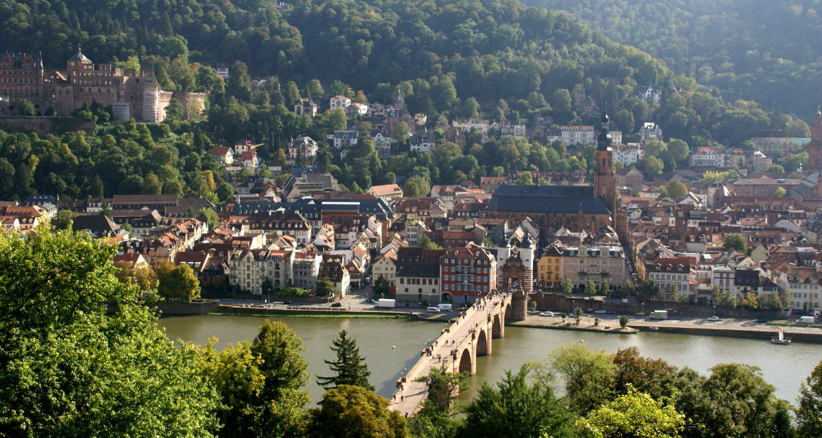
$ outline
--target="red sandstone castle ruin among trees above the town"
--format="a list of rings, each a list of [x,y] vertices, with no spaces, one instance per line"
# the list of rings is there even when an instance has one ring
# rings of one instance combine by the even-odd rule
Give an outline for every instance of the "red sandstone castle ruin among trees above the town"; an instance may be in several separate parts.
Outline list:
[[[190,108],[201,111],[205,99],[201,93],[160,90],[152,70],[137,75],[134,69],[109,63],[95,66],[79,47],[67,60],[65,71],[46,71],[39,55],[6,53],[0,57],[0,98],[12,103],[29,99],[38,115],[53,107],[59,116],[67,116],[95,101],[111,105],[115,121],[135,118],[138,122],[157,123],[164,120],[172,97],[180,100],[187,116]]]

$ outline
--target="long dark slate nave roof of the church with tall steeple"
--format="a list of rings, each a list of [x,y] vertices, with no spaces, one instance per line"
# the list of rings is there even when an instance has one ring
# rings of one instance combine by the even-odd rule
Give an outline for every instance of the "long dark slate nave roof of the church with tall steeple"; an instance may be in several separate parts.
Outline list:
[[[589,186],[503,185],[494,191],[488,210],[524,213],[610,214]]]

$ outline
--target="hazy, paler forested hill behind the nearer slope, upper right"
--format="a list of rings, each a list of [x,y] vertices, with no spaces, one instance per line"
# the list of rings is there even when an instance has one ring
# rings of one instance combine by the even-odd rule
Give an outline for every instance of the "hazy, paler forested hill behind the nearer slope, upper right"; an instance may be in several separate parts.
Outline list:
[[[810,118],[822,102],[819,0],[525,0],[571,12],[727,100]]]

